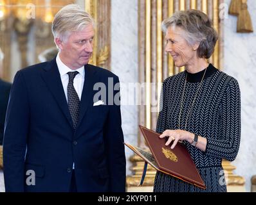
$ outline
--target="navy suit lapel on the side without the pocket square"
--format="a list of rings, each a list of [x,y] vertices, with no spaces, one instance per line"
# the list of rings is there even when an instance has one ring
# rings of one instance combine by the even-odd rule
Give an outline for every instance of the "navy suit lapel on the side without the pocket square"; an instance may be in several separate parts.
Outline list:
[[[60,110],[65,115],[70,126],[73,128],[73,122],[69,113],[68,103],[63,90],[62,81],[60,79],[60,73],[57,67],[56,58],[50,61],[48,65],[44,68],[44,70],[46,72],[42,73],[42,79],[44,79],[44,82],[48,86],[48,89],[55,98],[57,104],[59,105]]]

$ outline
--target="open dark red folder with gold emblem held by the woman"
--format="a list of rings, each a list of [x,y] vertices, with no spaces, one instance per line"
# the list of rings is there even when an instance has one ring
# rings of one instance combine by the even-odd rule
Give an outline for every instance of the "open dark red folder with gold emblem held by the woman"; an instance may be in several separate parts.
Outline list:
[[[139,147],[125,143],[127,147],[133,150],[152,167],[156,168],[156,170],[199,186],[200,188],[206,188],[194,161],[187,151],[187,148],[182,143],[177,143],[174,149],[170,149],[170,145],[165,146],[165,138],[159,138],[159,133],[143,126],[140,126],[140,130],[152,154],[143,151]]]

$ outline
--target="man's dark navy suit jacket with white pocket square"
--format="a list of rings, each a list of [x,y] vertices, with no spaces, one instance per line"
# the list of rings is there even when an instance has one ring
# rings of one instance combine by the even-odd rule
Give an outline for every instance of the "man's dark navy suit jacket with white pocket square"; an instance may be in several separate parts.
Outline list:
[[[125,192],[120,106],[93,106],[95,83],[102,82],[113,92],[108,78],[114,84],[119,80],[108,70],[84,67],[76,130],[55,59],[17,72],[3,143],[7,192],[68,192],[73,162],[78,192]],[[113,101],[113,95],[108,100]],[[28,170],[35,171],[35,185],[26,185],[32,176]]]

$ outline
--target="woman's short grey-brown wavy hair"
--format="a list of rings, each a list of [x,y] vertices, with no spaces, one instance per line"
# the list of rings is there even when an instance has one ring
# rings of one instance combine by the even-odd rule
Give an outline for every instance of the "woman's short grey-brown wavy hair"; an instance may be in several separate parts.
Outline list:
[[[164,32],[170,26],[179,26],[184,29],[188,44],[193,45],[199,42],[197,49],[199,58],[210,58],[214,53],[218,35],[212,26],[212,20],[205,13],[199,10],[175,12],[174,15],[162,22]]]

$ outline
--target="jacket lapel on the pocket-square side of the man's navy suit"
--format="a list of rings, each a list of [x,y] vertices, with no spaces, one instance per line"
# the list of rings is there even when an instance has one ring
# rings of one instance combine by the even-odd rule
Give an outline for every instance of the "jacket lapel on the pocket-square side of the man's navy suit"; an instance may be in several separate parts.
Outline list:
[[[96,70],[91,67],[91,65],[87,64],[84,66],[85,75],[84,75],[84,87],[82,91],[82,97],[80,102],[80,112],[79,112],[79,120],[77,124],[77,128],[80,126],[82,119],[84,118],[84,114],[86,113],[87,108],[90,104],[93,103],[93,86],[97,82],[94,75]]]

